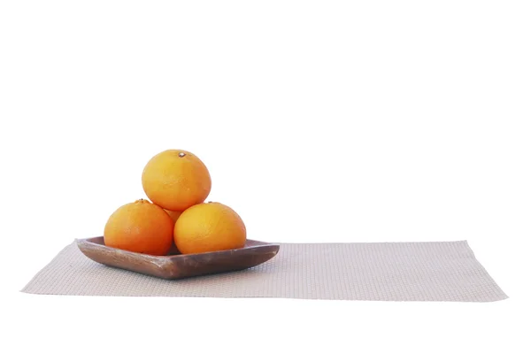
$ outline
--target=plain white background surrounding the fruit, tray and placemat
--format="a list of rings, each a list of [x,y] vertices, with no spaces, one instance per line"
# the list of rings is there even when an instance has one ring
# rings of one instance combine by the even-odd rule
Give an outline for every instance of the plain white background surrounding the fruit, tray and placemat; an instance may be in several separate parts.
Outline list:
[[[0,4],[0,351],[529,352],[527,1]],[[19,292],[172,148],[250,238],[466,239],[510,298]]]

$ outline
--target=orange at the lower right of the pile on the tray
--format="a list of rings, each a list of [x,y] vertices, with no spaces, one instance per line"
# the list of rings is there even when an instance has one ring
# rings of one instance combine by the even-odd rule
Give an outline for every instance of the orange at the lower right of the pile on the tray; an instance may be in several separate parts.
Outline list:
[[[242,218],[220,203],[190,207],[182,212],[173,230],[173,241],[183,254],[239,249],[246,238]]]

